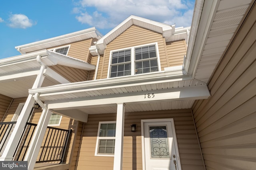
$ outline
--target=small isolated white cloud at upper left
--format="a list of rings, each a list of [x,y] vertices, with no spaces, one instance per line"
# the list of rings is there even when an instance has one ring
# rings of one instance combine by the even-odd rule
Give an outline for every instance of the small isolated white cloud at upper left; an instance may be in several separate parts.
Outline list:
[[[36,24],[24,14],[11,14],[8,20],[9,20],[8,26],[13,28],[26,29],[27,27],[32,27],[32,25]]]

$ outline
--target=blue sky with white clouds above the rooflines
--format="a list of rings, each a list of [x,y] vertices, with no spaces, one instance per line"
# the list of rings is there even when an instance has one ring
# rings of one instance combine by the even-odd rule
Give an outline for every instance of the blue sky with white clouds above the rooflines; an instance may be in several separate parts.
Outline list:
[[[190,26],[194,0],[3,0],[0,3],[0,59],[14,48],[96,27],[105,35],[130,15]]]

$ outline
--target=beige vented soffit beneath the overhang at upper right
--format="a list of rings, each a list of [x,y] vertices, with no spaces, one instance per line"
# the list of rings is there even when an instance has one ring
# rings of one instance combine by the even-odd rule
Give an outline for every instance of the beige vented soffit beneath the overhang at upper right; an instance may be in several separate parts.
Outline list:
[[[251,2],[252,0],[220,1],[200,52],[194,78],[206,83],[209,81]]]

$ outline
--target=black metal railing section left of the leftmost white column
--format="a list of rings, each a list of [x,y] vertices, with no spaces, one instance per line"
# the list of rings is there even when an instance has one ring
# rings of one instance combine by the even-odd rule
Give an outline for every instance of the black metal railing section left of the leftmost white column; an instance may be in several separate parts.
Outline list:
[[[0,122],[0,155],[2,155],[3,148],[5,147],[15,124],[16,121]]]

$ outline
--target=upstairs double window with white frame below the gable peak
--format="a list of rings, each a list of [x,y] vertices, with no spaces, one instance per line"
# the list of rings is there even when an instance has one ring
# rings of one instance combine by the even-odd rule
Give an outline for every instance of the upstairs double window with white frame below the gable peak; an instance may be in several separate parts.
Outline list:
[[[160,70],[157,43],[111,51],[109,77],[156,72]]]

